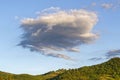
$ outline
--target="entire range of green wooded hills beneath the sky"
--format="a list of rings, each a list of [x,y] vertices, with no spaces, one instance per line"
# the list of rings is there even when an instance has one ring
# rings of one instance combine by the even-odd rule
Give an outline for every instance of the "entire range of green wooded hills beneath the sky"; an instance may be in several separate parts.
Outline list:
[[[0,80],[120,80],[120,58],[78,69],[60,69],[43,75],[0,72]]]

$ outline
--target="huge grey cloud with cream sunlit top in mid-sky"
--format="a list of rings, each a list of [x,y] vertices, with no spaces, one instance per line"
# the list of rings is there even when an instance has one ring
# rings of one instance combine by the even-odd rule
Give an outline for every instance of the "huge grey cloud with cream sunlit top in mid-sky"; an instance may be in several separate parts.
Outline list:
[[[44,10],[37,18],[21,20],[23,35],[19,46],[46,56],[68,59],[70,57],[57,52],[79,52],[76,47],[92,43],[99,37],[92,32],[98,21],[95,12],[84,9],[52,10]]]

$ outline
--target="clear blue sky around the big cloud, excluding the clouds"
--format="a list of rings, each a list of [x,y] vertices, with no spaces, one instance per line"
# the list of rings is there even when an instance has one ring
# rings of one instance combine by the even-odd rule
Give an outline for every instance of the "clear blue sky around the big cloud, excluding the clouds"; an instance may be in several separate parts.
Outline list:
[[[105,57],[109,50],[119,50],[120,45],[120,9],[119,0],[0,0],[0,70],[11,73],[42,74],[61,68],[77,68],[84,65],[101,63],[90,58]],[[94,3],[94,5],[93,5]],[[113,6],[102,6],[112,4]],[[98,22],[92,29],[99,33],[99,38],[91,44],[83,44],[79,53],[68,55],[75,60],[65,60],[31,52],[27,48],[16,46],[21,41],[23,30],[20,28],[23,18],[35,18],[36,12],[50,7],[62,10],[85,9],[96,12]],[[67,52],[65,52],[67,53]]]

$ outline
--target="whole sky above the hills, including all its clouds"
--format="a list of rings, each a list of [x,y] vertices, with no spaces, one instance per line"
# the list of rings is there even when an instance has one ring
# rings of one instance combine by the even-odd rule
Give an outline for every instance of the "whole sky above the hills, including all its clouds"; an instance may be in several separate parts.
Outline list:
[[[43,74],[120,57],[120,0],[0,0],[0,71]]]

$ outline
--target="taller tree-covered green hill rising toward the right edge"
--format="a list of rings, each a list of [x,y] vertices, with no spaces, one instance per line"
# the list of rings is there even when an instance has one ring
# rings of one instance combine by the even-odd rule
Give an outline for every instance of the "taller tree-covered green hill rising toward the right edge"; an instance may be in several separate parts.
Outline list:
[[[94,66],[71,69],[51,80],[120,80],[120,58]]]

